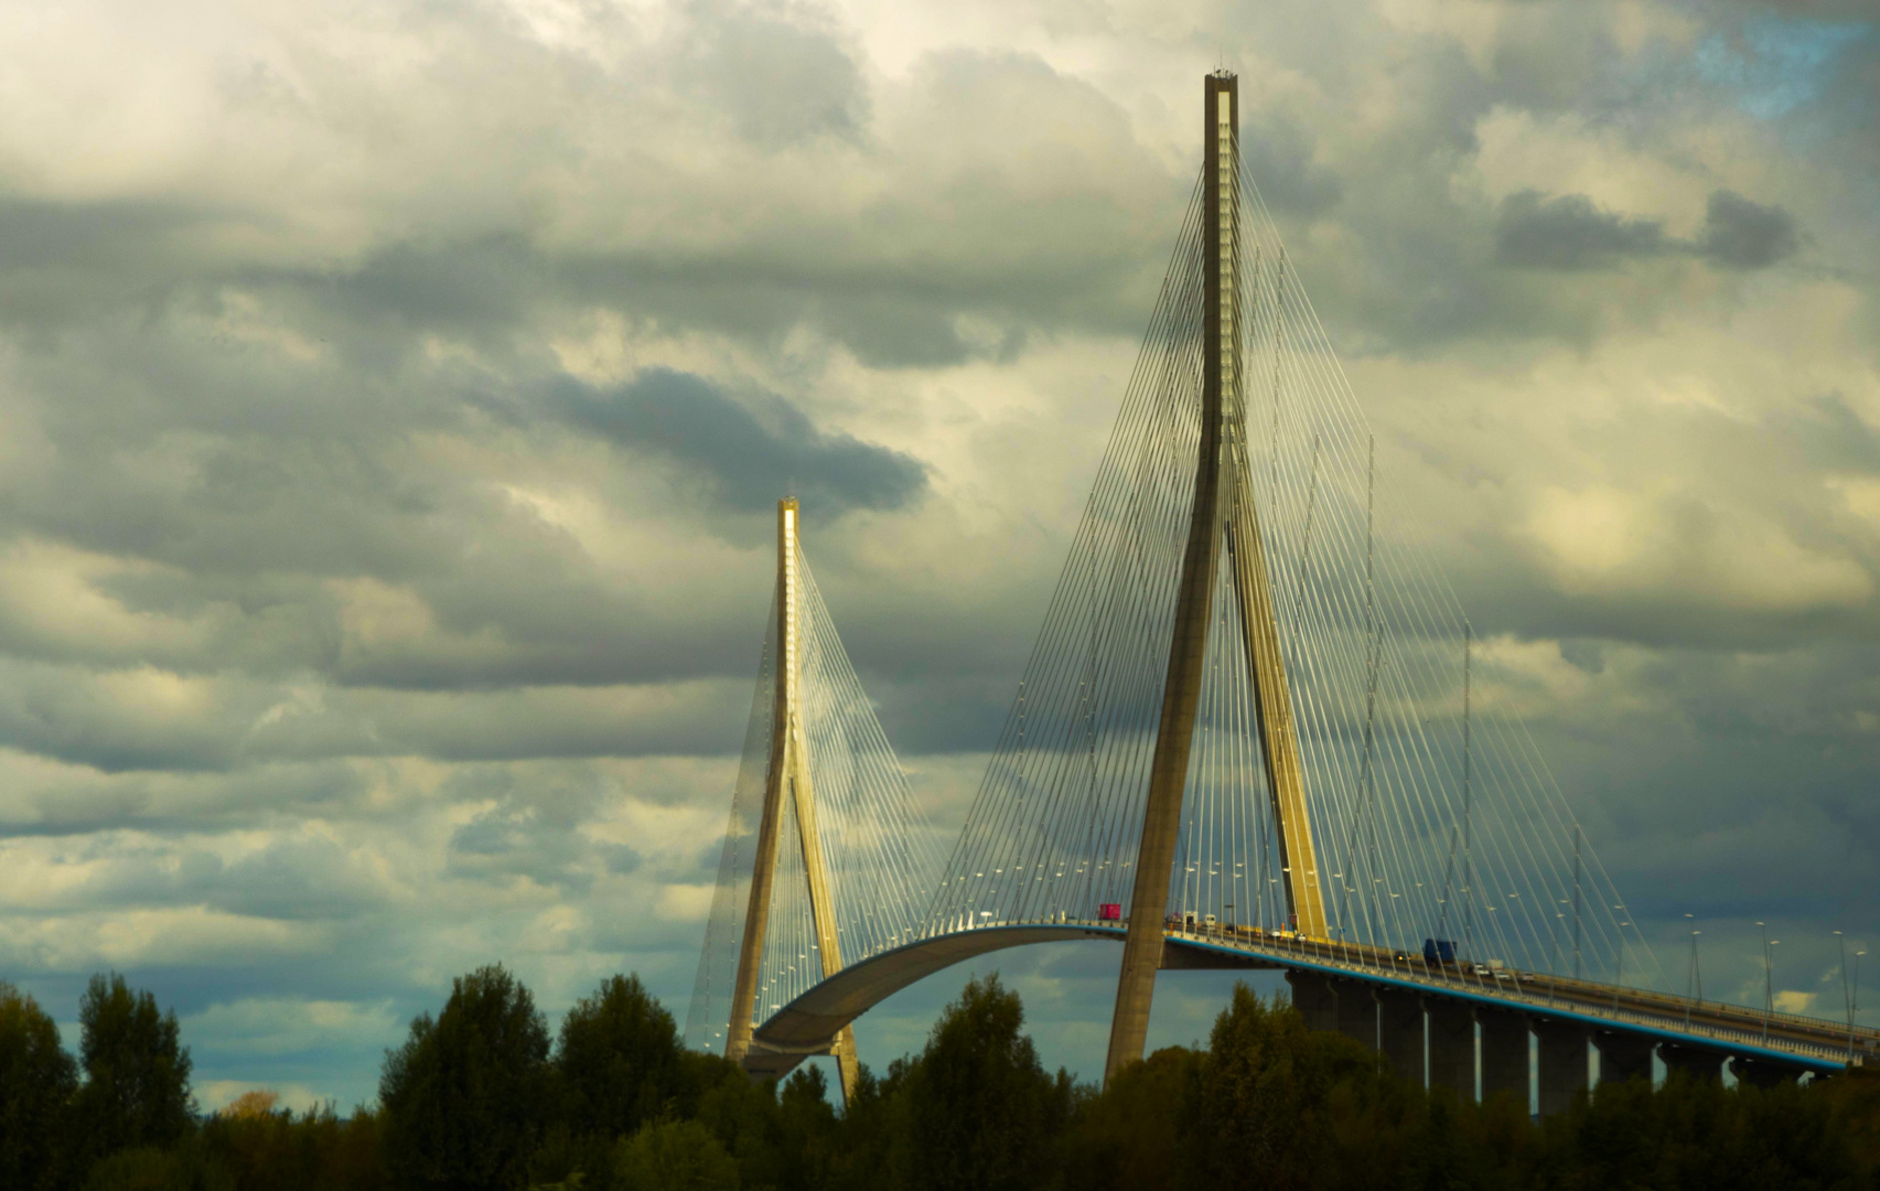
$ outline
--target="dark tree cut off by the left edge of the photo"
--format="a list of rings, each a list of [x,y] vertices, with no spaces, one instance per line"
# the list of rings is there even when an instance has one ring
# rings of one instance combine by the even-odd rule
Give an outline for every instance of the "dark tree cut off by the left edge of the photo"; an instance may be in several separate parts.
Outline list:
[[[0,982],[0,1187],[38,1191],[64,1174],[66,1106],[79,1067],[39,1003]]]

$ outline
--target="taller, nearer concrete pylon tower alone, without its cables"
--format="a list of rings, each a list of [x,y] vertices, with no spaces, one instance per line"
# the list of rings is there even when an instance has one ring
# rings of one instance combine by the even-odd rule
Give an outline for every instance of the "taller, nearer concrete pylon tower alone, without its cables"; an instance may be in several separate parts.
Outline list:
[[[1169,869],[1181,830],[1188,754],[1201,700],[1207,634],[1220,549],[1230,553],[1230,578],[1254,675],[1256,721],[1267,788],[1286,869],[1286,901],[1295,928],[1325,935],[1325,897],[1305,805],[1305,770],[1293,726],[1292,694],[1280,657],[1273,591],[1254,508],[1246,452],[1246,410],[1241,386],[1241,100],[1239,79],[1214,71],[1203,79],[1201,273],[1203,378],[1201,448],[1194,478],[1194,512],[1175,595],[1175,632],[1162,687],[1162,715],[1149,771],[1143,835],[1130,896],[1130,924],[1117,980],[1117,1010],[1109,1024],[1109,1080],[1143,1057],[1156,969],[1162,965],[1162,922],[1167,911]]]

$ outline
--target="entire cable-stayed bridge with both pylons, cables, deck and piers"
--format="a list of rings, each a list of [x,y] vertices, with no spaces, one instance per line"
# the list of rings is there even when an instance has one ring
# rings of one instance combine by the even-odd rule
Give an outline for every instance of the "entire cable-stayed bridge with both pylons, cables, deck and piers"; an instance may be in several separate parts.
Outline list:
[[[1474,1095],[1669,1067],[1769,1082],[1880,1031],[1677,995],[1376,472],[1205,79],[1203,164],[1083,521],[966,824],[932,847],[778,506],[778,574],[688,1040],[833,1054],[942,967],[1115,939],[1105,1078],[1156,971],[1284,969],[1318,1029]],[[1686,990],[1696,993],[1698,990]],[[1538,1072],[1534,1063],[1538,1061]]]

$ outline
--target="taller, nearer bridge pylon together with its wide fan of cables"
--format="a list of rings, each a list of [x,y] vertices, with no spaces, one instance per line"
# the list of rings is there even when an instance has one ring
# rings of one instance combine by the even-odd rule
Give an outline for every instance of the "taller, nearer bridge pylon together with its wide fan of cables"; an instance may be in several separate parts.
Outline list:
[[[1404,444],[1245,169],[1239,92],[1203,79],[1183,228],[931,914],[1111,922],[1105,1076],[1143,1054],[1156,971],[1201,961],[1167,952],[1192,931],[1662,980],[1517,717],[1545,660],[1474,638],[1378,482]]]

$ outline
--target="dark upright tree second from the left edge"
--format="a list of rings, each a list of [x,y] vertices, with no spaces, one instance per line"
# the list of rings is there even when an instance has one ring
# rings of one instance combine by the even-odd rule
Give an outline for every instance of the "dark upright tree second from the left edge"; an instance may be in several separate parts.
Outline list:
[[[196,1123],[190,1050],[180,1044],[175,1010],[160,1012],[149,992],[124,977],[92,977],[79,1001],[77,1093],[83,1144],[92,1155],[171,1146]]]

